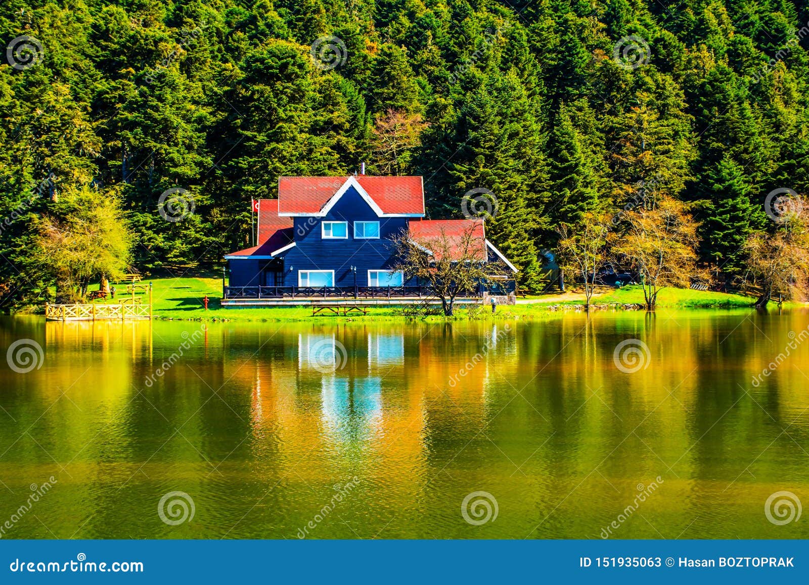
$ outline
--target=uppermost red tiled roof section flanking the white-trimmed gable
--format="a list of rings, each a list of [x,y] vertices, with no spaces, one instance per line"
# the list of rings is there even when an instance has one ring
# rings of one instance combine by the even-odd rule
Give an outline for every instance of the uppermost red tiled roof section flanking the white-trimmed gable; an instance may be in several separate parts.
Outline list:
[[[383,214],[424,214],[420,176],[354,177]],[[283,214],[316,214],[343,186],[347,176],[282,176],[278,208]]]

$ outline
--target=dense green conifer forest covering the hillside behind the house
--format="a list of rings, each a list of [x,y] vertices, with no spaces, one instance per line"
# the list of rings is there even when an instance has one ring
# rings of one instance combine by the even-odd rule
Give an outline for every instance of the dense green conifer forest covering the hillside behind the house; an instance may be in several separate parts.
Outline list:
[[[430,218],[487,193],[528,288],[560,226],[655,201],[744,278],[809,193],[807,0],[2,4],[4,310],[66,270],[221,264],[278,176],[362,163],[423,176]]]

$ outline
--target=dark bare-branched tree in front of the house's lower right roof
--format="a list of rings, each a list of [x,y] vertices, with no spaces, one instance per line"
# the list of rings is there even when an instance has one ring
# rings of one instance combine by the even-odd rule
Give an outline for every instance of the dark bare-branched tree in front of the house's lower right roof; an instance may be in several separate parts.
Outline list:
[[[430,286],[441,300],[445,316],[451,316],[455,298],[472,295],[493,276],[505,273],[500,262],[486,262],[485,240],[479,225],[470,224],[459,234],[443,228],[435,235],[419,236],[402,231],[392,240],[396,248],[393,270],[404,273],[404,281],[417,278]]]

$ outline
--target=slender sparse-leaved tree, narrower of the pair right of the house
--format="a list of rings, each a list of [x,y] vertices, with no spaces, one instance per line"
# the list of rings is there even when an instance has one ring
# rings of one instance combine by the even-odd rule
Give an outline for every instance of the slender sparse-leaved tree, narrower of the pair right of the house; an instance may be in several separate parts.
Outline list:
[[[610,226],[608,214],[587,212],[581,222],[562,223],[557,227],[560,235],[559,268],[573,273],[584,281],[584,307],[590,310],[590,299],[595,286],[595,273],[607,260],[607,234]],[[592,282],[591,282],[592,281]]]

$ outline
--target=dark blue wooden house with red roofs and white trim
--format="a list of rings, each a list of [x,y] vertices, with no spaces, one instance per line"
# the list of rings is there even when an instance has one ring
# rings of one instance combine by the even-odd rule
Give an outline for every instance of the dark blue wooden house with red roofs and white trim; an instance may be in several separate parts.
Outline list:
[[[288,176],[278,198],[258,201],[258,245],[225,256],[226,299],[294,295],[415,295],[404,282],[391,236],[416,237],[474,230],[481,261],[514,265],[485,238],[482,219],[424,219],[420,176]],[[353,294],[352,294],[353,293]]]

